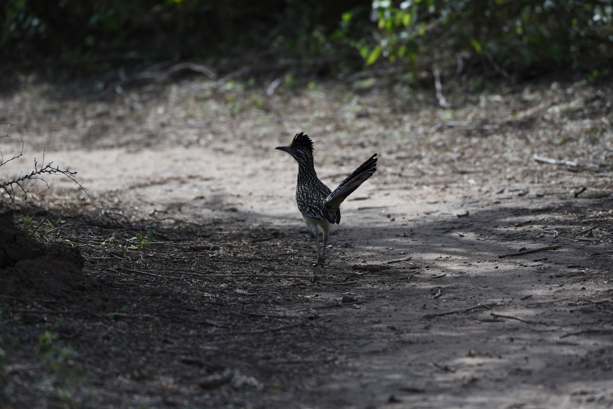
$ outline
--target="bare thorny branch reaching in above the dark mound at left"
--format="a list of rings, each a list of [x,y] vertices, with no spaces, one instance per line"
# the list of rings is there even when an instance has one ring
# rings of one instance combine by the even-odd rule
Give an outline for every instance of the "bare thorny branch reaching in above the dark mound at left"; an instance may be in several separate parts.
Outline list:
[[[9,123],[4,123],[0,125],[9,126],[6,135],[2,135],[0,136],[0,138],[9,137],[9,131],[13,125]],[[4,154],[2,154],[2,150],[0,148],[0,167],[6,163],[9,163],[11,160],[15,160],[22,157],[23,147],[23,138],[21,138],[20,152],[18,154],[13,154],[13,157],[7,160],[4,160]],[[34,158],[34,170],[32,170],[31,172],[26,174],[21,173],[19,176],[11,180],[0,179],[0,189],[4,189],[4,191],[10,197],[10,201],[12,202],[15,201],[15,197],[17,197],[17,195],[21,195],[24,199],[26,199],[28,198],[28,193],[31,192],[32,186],[37,184],[37,182],[44,183],[45,186],[47,186],[48,188],[49,183],[47,179],[45,179],[45,176],[52,174],[62,174],[66,176],[66,178],[69,178],[71,181],[75,182],[75,184],[80,187],[81,190],[83,190],[83,192],[85,192],[85,194],[91,199],[91,196],[89,196],[89,193],[87,192],[87,190],[85,190],[83,184],[77,180],[75,176],[77,172],[70,171],[68,169],[61,169],[58,166],[53,166],[53,162],[45,164],[45,152],[43,152],[42,163],[39,163],[36,158]]]

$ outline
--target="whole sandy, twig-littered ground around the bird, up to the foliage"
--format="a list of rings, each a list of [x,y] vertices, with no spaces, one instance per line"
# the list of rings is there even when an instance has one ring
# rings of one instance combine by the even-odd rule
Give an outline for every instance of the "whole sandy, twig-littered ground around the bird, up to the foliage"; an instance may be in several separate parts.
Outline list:
[[[46,149],[93,198],[18,203],[85,267],[4,280],[0,407],[613,406],[611,85],[315,85],[0,100],[2,174]],[[323,266],[274,150],[300,130],[332,188],[379,154]]]

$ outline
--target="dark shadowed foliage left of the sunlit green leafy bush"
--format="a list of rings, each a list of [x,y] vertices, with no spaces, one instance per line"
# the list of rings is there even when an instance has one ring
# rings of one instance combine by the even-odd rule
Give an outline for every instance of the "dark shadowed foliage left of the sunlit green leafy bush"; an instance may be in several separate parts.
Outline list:
[[[0,56],[90,71],[219,56],[337,56],[350,34],[339,31],[341,15],[360,7],[368,13],[370,1],[5,0]]]

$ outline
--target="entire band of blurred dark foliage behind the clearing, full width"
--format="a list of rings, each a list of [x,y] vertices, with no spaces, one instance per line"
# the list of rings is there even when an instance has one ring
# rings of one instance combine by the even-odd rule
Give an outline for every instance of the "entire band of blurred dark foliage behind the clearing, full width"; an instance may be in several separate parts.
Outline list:
[[[3,61],[47,67],[47,75],[58,66],[91,72],[185,59],[235,70],[246,61],[270,63],[287,57],[295,64],[289,69],[283,64],[285,73],[329,75],[384,59],[411,68],[470,57],[503,75],[579,67],[591,72],[588,80],[593,81],[603,77],[613,56],[613,0],[2,4]],[[289,88],[296,84],[291,75],[284,78]]]

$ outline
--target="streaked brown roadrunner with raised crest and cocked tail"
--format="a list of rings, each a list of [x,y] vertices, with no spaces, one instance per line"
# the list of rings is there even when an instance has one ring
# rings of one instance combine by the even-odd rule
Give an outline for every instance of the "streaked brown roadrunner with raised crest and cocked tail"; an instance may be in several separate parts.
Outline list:
[[[275,149],[286,151],[298,162],[298,183],[296,186],[296,203],[307,226],[317,239],[317,262],[326,260],[325,252],[330,236],[330,223],[341,221],[340,205],[346,197],[356,190],[377,170],[377,154],[374,154],[359,168],[353,171],[337,189],[332,192],[315,173],[313,166],[313,141],[303,132],[297,133],[290,146],[278,146]],[[324,246],[319,246],[319,229],[324,233]]]

